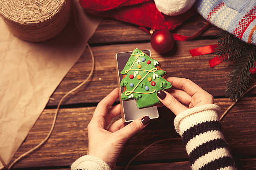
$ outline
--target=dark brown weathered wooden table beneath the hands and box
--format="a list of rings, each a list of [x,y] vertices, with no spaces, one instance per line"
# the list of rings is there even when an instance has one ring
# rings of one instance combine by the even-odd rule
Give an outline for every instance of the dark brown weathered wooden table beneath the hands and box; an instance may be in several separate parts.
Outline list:
[[[193,35],[206,21],[196,15],[174,32]],[[161,63],[167,76],[189,78],[210,92],[222,112],[232,103],[224,95],[232,62],[223,62],[210,68],[208,60],[215,55],[192,57],[189,49],[217,42],[218,28],[211,27],[200,37],[190,41],[177,41],[174,49],[159,55],[151,49],[151,55]],[[95,55],[95,71],[90,82],[70,95],[63,103],[54,131],[47,143],[36,152],[18,162],[13,168],[29,170],[68,170],[70,165],[82,155],[87,154],[87,125],[95,107],[111,90],[117,87],[114,55],[116,52],[149,49],[150,35],[138,26],[116,20],[104,19],[89,43]],[[31,129],[12,161],[22,153],[41,142],[49,132],[54,111],[60,98],[81,83],[91,70],[90,52],[85,50],[77,63],[51,96],[44,112]],[[253,80],[254,82],[255,79]],[[223,133],[241,170],[256,169],[256,89],[243,97],[221,122]],[[136,158],[130,169],[176,169],[189,170],[187,153],[179,135],[174,130],[174,114],[167,108],[159,108],[160,117],[148,127],[128,140],[117,161],[121,170],[140,150],[152,142],[165,138],[171,141],[158,143]]]

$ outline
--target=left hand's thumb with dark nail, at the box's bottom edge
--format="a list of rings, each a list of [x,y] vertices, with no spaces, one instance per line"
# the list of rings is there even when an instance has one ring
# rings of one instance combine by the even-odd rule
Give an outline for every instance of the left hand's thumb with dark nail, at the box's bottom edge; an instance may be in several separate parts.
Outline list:
[[[150,122],[150,118],[148,116],[140,117],[136,120],[133,120],[133,122],[126,125],[122,129],[116,131],[115,133],[118,133],[120,138],[126,141],[129,138],[131,138],[134,134],[144,129],[149,122]]]

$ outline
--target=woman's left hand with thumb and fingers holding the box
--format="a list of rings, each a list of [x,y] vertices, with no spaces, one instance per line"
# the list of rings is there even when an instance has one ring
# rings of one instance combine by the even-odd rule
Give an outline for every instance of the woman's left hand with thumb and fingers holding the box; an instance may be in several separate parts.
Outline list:
[[[121,113],[120,104],[111,107],[118,97],[119,92],[116,88],[99,102],[92,120],[88,124],[89,149],[87,155],[104,160],[111,169],[115,167],[125,142],[145,128],[150,121],[149,117],[145,116],[125,126],[122,119],[119,119],[107,128],[111,119]]]

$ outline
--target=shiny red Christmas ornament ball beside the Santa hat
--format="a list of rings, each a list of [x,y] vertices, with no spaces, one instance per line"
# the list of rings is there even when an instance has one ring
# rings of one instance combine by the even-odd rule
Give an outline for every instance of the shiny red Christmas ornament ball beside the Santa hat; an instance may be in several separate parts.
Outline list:
[[[168,30],[156,30],[151,37],[151,46],[156,52],[164,54],[172,50],[174,39]]]

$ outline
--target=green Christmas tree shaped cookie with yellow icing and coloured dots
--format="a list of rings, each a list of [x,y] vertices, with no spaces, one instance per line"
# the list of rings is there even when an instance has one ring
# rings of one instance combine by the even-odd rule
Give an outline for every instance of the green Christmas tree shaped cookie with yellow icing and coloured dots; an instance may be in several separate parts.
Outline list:
[[[125,86],[121,99],[136,99],[138,108],[159,103],[156,93],[172,87],[172,84],[164,79],[166,71],[160,69],[159,62],[138,48],[133,50],[121,74],[123,80],[120,86]]]

